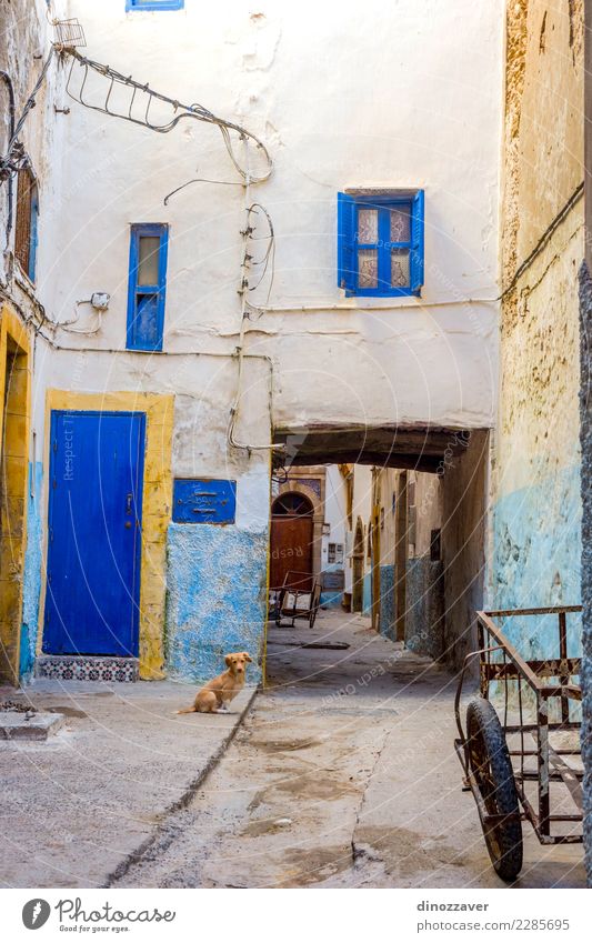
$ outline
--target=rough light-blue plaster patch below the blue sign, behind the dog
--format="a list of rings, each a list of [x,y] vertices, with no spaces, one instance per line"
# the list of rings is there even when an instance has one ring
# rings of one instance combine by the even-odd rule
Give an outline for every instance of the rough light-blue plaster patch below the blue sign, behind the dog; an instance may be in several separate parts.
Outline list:
[[[269,534],[237,526],[172,523],[168,536],[167,666],[202,682],[224,670],[229,651],[253,658],[257,683],[267,613]]]

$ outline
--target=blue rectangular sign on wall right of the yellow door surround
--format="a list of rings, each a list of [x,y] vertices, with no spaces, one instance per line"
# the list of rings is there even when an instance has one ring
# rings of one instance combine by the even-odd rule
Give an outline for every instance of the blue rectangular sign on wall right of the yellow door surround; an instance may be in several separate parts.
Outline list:
[[[237,482],[223,479],[177,478],[172,519],[179,524],[233,524]]]

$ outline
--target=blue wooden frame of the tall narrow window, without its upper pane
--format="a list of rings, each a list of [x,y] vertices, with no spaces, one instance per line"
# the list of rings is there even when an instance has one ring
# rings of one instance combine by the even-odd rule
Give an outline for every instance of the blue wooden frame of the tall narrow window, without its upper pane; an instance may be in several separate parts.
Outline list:
[[[140,239],[157,237],[158,284],[138,283]],[[164,298],[167,292],[167,257],[169,227],[165,223],[136,223],[130,238],[130,274],[128,282],[128,350],[160,351],[164,333]]]

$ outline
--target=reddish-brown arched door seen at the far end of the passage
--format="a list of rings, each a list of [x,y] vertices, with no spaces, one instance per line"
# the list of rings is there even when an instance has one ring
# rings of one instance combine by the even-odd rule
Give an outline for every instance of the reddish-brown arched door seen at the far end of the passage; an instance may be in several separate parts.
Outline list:
[[[313,510],[304,494],[288,491],[280,494],[271,508],[270,589],[283,586],[290,574],[298,589],[310,590],[312,574]]]

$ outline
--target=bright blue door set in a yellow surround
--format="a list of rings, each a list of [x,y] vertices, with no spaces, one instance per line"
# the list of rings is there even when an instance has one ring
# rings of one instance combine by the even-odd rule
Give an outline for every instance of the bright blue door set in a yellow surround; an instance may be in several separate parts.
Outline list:
[[[51,414],[43,651],[138,655],[146,417]]]

